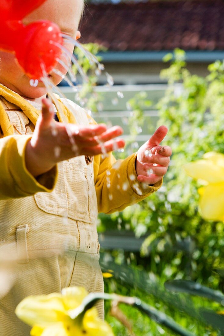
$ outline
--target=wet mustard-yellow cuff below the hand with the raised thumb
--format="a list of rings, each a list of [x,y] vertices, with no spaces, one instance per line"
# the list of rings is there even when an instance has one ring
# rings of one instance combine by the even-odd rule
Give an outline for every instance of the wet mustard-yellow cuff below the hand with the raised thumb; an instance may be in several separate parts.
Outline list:
[[[156,182],[155,184],[151,185],[147,185],[145,183],[139,182],[137,180],[137,173],[135,170],[135,160],[137,158],[137,153],[132,154],[129,157],[129,162],[128,162],[128,166],[127,166],[127,175],[128,175],[128,180],[130,183],[130,186],[132,188],[132,190],[140,195],[140,196],[147,196],[150,195],[154,192],[156,192],[163,184],[163,177],[161,178],[160,181]]]

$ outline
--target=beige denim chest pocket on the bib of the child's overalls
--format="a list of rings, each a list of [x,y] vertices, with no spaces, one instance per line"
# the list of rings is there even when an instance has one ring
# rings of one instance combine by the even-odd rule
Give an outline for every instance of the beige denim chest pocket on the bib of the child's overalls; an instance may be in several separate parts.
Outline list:
[[[97,215],[93,167],[86,165],[83,156],[59,163],[54,190],[37,193],[34,199],[47,213],[92,223]]]

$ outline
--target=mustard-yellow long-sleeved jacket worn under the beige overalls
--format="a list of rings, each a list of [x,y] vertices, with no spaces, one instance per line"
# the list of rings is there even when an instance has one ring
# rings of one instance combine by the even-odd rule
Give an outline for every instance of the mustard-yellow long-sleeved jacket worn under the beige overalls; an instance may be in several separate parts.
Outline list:
[[[57,180],[57,169],[44,174],[48,177],[44,179],[44,183],[43,177],[35,179],[28,172],[25,166],[25,149],[31,135],[14,134],[16,127],[9,120],[9,112],[15,112],[18,107],[17,110],[22,111],[30,121],[29,126],[32,130],[41,111],[3,85],[0,85],[0,98],[0,200],[30,196],[43,191],[51,192]],[[69,110],[68,102],[65,106],[62,100],[58,100],[63,111],[63,115],[57,112],[59,121],[76,123],[76,117]],[[6,113],[7,104],[14,105],[14,110],[9,106]],[[76,105],[76,108],[86,115],[79,106]],[[154,186],[146,186],[137,181],[135,159],[136,154],[119,161],[116,161],[111,153],[105,158],[101,155],[94,157],[94,184],[98,212],[121,211],[161,187],[162,180]],[[108,187],[108,179],[110,187]]]

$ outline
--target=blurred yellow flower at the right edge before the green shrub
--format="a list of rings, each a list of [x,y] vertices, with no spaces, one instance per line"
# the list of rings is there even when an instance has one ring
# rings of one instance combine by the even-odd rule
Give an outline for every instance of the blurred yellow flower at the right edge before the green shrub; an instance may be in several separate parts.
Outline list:
[[[224,155],[209,152],[203,160],[184,166],[187,174],[202,180],[205,186],[199,188],[199,211],[205,219],[224,220]]]

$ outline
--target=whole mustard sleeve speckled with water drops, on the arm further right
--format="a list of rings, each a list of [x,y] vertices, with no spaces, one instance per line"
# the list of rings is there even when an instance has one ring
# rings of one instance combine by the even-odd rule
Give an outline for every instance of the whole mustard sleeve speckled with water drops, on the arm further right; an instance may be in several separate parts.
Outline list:
[[[94,177],[98,212],[112,213],[122,211],[158,190],[163,179],[148,186],[138,182],[135,170],[137,153],[125,160],[114,158],[109,153],[104,159],[101,155],[94,157]]]

